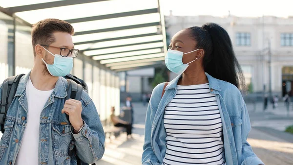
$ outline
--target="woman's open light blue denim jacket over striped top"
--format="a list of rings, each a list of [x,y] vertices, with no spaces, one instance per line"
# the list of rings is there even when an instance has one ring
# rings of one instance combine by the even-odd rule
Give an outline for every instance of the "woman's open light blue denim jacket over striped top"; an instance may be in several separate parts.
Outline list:
[[[253,153],[247,142],[251,130],[250,118],[240,91],[232,84],[213,78],[206,73],[209,91],[216,95],[223,122],[223,158],[226,165],[259,165],[263,162]],[[162,165],[166,154],[164,111],[175,97],[177,82],[181,75],[172,80],[161,98],[164,83],[157,85],[151,95],[146,112],[145,144],[143,165]]]

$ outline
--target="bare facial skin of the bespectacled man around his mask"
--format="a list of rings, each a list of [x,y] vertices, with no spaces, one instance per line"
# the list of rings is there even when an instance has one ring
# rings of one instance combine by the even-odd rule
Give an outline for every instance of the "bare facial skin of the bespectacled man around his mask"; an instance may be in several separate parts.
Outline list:
[[[63,33],[63,32],[54,32],[53,36],[55,37],[55,42],[50,44],[49,46],[52,47],[44,47],[48,51],[50,51],[52,54],[59,54],[60,55],[60,48],[55,48],[55,47],[66,47],[69,49],[74,48],[73,41],[72,41],[72,36],[69,33]],[[45,51],[45,55],[43,56],[44,61],[47,64],[54,64],[54,56],[50,54],[49,52]],[[64,57],[65,58],[65,57]],[[46,67],[46,64],[42,61],[42,65],[44,66],[43,68],[43,73],[46,75],[51,75]]]

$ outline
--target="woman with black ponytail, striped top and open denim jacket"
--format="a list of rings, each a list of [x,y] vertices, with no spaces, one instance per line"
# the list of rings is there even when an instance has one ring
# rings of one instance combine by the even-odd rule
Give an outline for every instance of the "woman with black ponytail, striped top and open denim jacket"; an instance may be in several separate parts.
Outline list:
[[[247,142],[244,78],[226,30],[209,23],[179,31],[165,63],[179,76],[153,90],[143,165],[262,165]]]

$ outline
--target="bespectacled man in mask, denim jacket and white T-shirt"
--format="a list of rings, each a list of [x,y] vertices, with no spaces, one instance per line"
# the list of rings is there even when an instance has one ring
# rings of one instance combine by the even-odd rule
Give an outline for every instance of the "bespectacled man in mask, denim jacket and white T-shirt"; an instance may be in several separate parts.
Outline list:
[[[33,26],[34,66],[21,78],[7,112],[0,165],[77,165],[69,154],[72,144],[82,162],[102,158],[105,134],[93,101],[84,91],[80,100],[65,101],[68,83],[62,76],[78,55],[73,33],[70,24],[57,19]]]

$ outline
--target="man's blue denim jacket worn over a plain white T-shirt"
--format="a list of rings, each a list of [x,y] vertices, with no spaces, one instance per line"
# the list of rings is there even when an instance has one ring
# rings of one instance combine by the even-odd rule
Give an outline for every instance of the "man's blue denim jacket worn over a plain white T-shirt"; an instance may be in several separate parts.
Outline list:
[[[27,123],[26,118],[29,113],[25,92],[29,75],[30,73],[21,77],[15,98],[5,118],[5,132],[0,141],[0,165],[14,165],[20,150]],[[83,108],[84,127],[78,134],[71,132],[70,122],[65,114],[61,113],[64,98],[67,95],[66,87],[67,81],[63,77],[59,77],[54,92],[50,95],[42,110],[39,134],[40,165],[77,165],[76,157],[69,156],[69,145],[72,144],[73,138],[77,155],[83,162],[95,163],[104,154],[104,130],[93,101],[84,91],[80,99]],[[1,89],[2,85],[0,85],[0,94]]]

